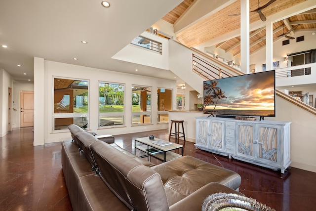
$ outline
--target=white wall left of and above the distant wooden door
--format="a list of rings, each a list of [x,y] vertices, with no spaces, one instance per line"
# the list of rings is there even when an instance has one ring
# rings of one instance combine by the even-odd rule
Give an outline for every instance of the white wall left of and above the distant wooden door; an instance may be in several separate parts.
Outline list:
[[[13,108],[12,110],[12,127],[20,127],[20,91],[34,91],[33,82],[14,81],[13,82]]]

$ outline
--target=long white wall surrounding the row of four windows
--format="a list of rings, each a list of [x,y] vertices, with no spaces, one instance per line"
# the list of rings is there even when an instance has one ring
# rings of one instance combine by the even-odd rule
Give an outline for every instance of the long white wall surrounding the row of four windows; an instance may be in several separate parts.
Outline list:
[[[37,58],[40,60],[40,58]],[[42,67],[40,67],[42,65]],[[38,67],[36,67],[38,66]],[[35,109],[35,121],[41,121],[43,124],[34,124],[35,137],[34,145],[42,145],[50,142],[62,141],[70,138],[68,131],[52,131],[53,128],[53,77],[75,78],[89,81],[89,127],[91,132],[102,134],[124,134],[133,133],[146,130],[166,129],[168,124],[157,124],[157,87],[165,87],[173,90],[173,97],[176,97],[176,82],[170,80],[163,80],[152,77],[144,77],[139,75],[132,75],[126,73],[113,72],[109,70],[101,70],[95,68],[82,67],[77,65],[70,65],[65,63],[58,63],[52,61],[45,61],[41,64],[41,60],[35,60],[35,75],[37,69],[43,69],[44,74],[40,77],[35,77],[35,102],[44,108],[43,115],[39,114],[38,109]],[[99,84],[98,82],[112,82],[125,84],[125,127],[98,129],[98,108],[99,108]],[[36,83],[42,81],[45,84],[43,93],[36,88]],[[132,126],[131,119],[131,88],[133,85],[150,86],[152,91],[152,125],[146,126]],[[175,107],[175,105],[173,106]],[[43,116],[40,118],[40,116]],[[37,131],[44,131],[43,134],[37,134]],[[41,137],[43,136],[43,137]]]

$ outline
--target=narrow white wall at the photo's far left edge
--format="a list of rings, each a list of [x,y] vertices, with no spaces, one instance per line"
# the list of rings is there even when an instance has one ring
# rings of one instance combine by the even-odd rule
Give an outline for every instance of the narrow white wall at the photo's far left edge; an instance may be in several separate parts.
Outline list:
[[[13,90],[13,78],[5,70],[0,69],[0,137],[8,132],[8,90]],[[11,106],[12,108],[12,102]],[[10,121],[12,123],[12,121]]]

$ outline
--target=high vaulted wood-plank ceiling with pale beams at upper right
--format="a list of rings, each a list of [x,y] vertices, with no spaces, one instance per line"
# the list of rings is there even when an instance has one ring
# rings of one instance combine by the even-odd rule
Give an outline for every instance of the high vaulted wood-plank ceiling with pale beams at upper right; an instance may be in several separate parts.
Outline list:
[[[260,0],[260,7],[270,0]],[[210,1],[209,1],[210,2]],[[188,47],[203,44],[215,45],[234,56],[240,55],[240,0],[222,0],[222,5],[212,8],[205,0],[184,0],[162,19],[173,24],[177,40]],[[250,0],[249,10],[257,9],[258,0]],[[208,13],[203,11],[208,8]],[[222,8],[221,8],[222,7]],[[181,19],[190,19],[199,9],[202,15],[187,21],[182,28],[177,25]],[[300,12],[303,11],[303,12]],[[191,14],[190,14],[191,12]],[[273,40],[284,39],[283,34],[292,27],[299,26],[288,34],[295,38],[295,32],[316,32],[316,0],[276,0],[262,10],[265,22],[273,22]],[[283,14],[280,14],[283,13]],[[250,12],[250,54],[265,47],[266,27],[258,13]],[[284,24],[283,24],[284,22]],[[223,35],[228,35],[227,37]],[[279,37],[280,36],[280,37]],[[222,39],[221,39],[222,38]],[[209,42],[209,45],[207,44]]]

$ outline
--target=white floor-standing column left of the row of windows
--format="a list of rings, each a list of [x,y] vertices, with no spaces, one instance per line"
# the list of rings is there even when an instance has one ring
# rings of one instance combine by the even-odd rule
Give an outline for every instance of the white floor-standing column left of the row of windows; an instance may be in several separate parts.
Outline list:
[[[34,146],[45,144],[44,79],[44,59],[34,57]]]

